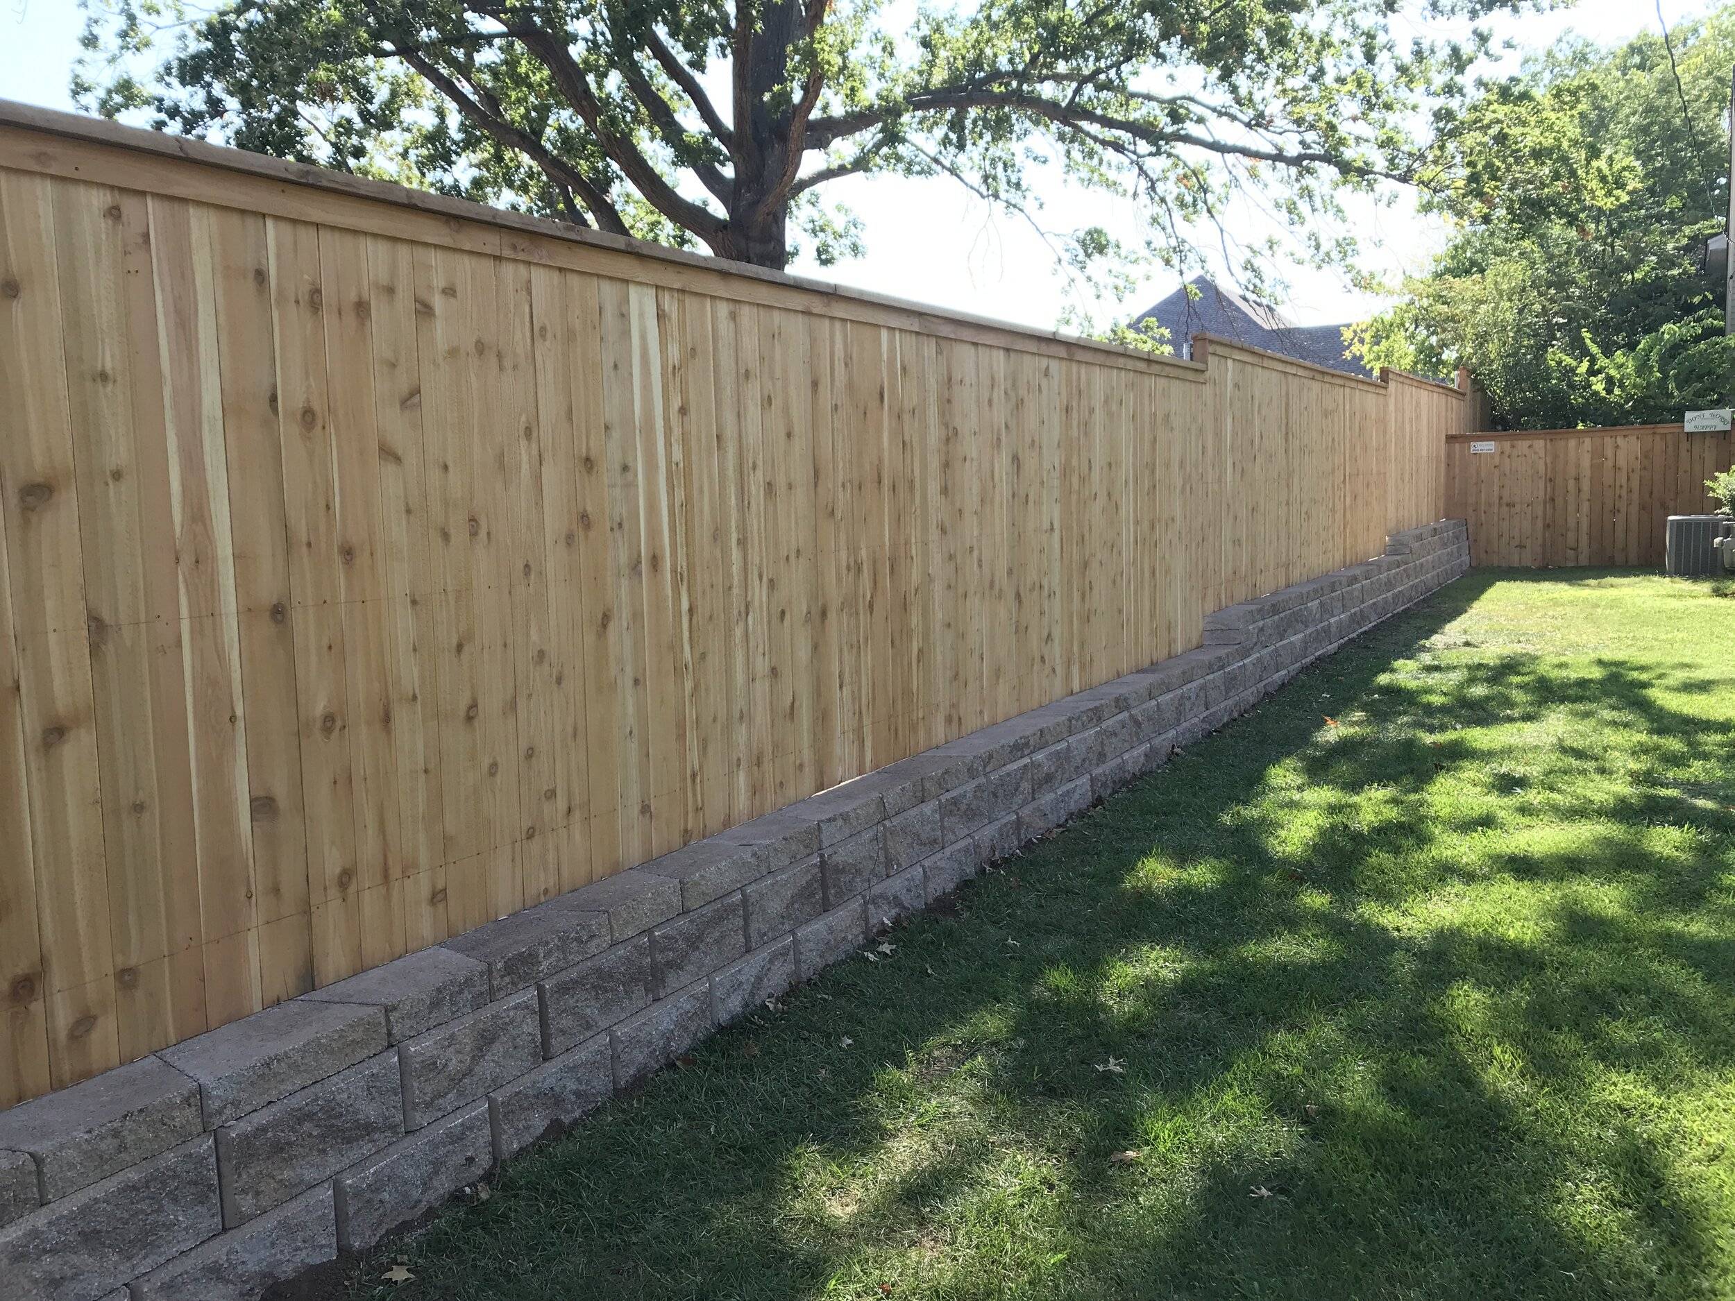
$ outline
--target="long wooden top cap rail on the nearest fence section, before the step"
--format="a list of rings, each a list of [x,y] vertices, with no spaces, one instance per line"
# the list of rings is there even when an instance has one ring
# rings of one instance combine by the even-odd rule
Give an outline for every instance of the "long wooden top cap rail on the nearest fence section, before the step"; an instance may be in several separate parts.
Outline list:
[[[283,158],[271,158],[269,154],[248,153],[246,149],[231,149],[227,146],[210,144],[208,141],[198,141],[187,135],[170,135],[167,132],[147,130],[144,127],[125,127],[118,121],[109,121],[106,118],[90,118],[80,113],[61,113],[59,109],[38,108],[35,104],[21,104],[12,99],[0,99],[0,128],[5,127],[28,132],[40,132],[43,135],[57,135],[62,139],[82,141],[87,144],[106,146],[115,149],[130,149],[135,153],[154,154],[158,158],[175,158],[180,161],[215,167],[227,172],[239,172],[264,180],[276,180],[291,186],[304,186],[307,189],[328,191],[333,194],[344,194],[352,199],[373,199],[376,203],[396,205],[399,208],[411,208],[415,212],[435,217],[477,222],[482,226],[494,226],[508,231],[524,231],[548,239],[560,239],[574,245],[590,245],[592,248],[606,248],[616,253],[632,253],[637,257],[656,258],[659,262],[703,267],[704,271],[715,274],[739,276],[743,279],[756,279],[767,284],[781,284],[791,290],[803,290],[809,293],[847,298],[899,312],[913,312],[916,316],[932,317],[937,321],[956,321],[961,324],[999,330],[1025,338],[1065,343],[1067,347],[1090,349],[1109,354],[1123,361],[1133,359],[1149,364],[1152,369],[1157,371],[1182,373],[1185,375],[1185,378],[1192,380],[1201,378],[1206,369],[1204,363],[1199,361],[1183,361],[1180,357],[1156,357],[1149,352],[1142,352],[1140,349],[1124,347],[1121,343],[1107,343],[1098,338],[1084,338],[1083,335],[1069,335],[1062,330],[1038,330],[1036,326],[1017,324],[1013,321],[999,321],[996,317],[977,316],[973,312],[958,312],[947,307],[935,307],[933,304],[914,302],[909,298],[897,298],[888,293],[873,293],[871,290],[857,290],[833,281],[810,279],[807,276],[791,276],[786,271],[770,271],[767,267],[748,265],[746,262],[727,262],[718,257],[689,253],[680,248],[668,248],[665,245],[652,245],[644,239],[632,239],[626,236],[609,234],[606,231],[578,227],[547,217],[531,217],[527,213],[508,212],[505,208],[491,208],[486,203],[472,203],[470,199],[458,199],[448,194],[435,194],[425,189],[397,186],[389,180],[373,180],[371,177],[356,177],[344,172],[331,172],[323,167],[312,167],[309,163],[291,163]]]

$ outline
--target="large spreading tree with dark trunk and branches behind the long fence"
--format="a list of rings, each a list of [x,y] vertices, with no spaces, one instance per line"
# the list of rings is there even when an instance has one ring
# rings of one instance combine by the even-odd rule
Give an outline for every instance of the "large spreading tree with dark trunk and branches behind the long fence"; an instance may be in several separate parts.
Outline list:
[[[949,175],[1036,220],[1058,170],[1150,215],[1142,246],[1058,241],[1112,276],[1195,258],[1249,186],[1348,258],[1339,187],[1433,177],[1416,130],[1485,47],[1393,17],[1534,0],[82,3],[75,92],[104,114],[765,267],[859,252],[817,196],[841,177]]]

